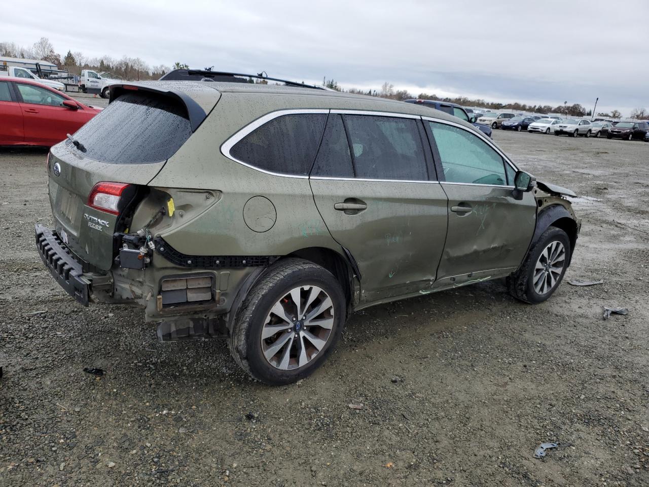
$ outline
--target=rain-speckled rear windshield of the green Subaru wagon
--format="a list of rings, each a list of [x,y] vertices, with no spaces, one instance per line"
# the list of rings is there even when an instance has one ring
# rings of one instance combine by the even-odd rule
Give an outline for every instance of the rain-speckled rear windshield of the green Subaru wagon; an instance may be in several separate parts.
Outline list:
[[[77,131],[86,157],[112,164],[147,164],[173,156],[190,138],[180,102],[154,94],[125,94]]]

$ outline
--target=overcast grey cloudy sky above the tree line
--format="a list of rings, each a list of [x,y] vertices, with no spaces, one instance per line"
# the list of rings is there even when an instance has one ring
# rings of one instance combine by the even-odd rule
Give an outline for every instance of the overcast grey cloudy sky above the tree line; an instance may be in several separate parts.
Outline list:
[[[649,108],[649,1],[8,2],[0,42],[413,95]]]

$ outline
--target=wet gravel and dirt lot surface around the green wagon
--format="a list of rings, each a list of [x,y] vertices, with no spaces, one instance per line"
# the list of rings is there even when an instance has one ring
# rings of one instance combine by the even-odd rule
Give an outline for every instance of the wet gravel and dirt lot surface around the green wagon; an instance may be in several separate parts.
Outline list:
[[[279,388],[225,343],[160,343],[140,310],[74,303],[34,249],[45,152],[0,151],[0,485],[649,485],[649,144],[494,136],[580,194],[566,280],[604,284],[564,281],[538,306],[495,281],[370,308]],[[569,446],[537,460],[541,442]]]

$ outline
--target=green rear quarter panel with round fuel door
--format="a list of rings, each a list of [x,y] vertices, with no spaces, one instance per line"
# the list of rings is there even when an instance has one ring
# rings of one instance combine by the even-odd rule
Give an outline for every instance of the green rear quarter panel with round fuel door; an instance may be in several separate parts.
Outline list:
[[[252,96],[255,103],[242,99]],[[287,105],[284,97],[276,95],[222,95],[212,114],[150,183],[163,191],[191,188],[219,192],[218,201],[195,218],[183,221],[178,214],[173,225],[161,234],[169,245],[187,255],[288,255],[307,247],[340,251],[313,203],[306,177],[269,175],[221,153],[225,140],[268,112],[319,108],[312,105],[309,96],[291,97],[291,101]],[[269,203],[255,210],[259,206],[254,202],[260,200],[247,205],[253,197],[263,197]],[[182,199],[175,201],[177,207],[183,203]],[[256,227],[254,221],[262,219],[265,226],[269,219],[275,219],[275,223],[267,231],[259,231],[264,225]]]

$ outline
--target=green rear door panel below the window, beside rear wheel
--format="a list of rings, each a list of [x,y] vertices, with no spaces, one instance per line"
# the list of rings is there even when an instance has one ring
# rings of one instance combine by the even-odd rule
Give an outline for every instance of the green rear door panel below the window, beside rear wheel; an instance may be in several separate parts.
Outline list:
[[[430,290],[444,247],[447,197],[437,182],[311,178],[315,204],[361,272],[361,302]],[[358,214],[336,210],[349,198]]]

